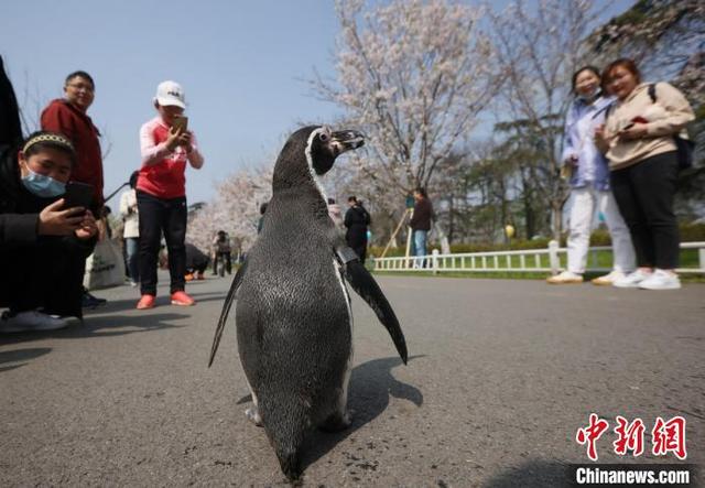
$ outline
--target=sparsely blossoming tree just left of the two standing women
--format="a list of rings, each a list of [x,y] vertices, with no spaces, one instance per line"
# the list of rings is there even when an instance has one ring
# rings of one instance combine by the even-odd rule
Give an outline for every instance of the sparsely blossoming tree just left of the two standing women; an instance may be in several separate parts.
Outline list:
[[[523,167],[531,174],[529,189],[545,198],[556,239],[568,195],[560,177],[561,128],[572,99],[571,77],[593,62],[584,40],[597,17],[592,0],[539,0],[531,6],[513,0],[490,14],[496,63],[507,75],[499,111],[512,137],[530,145],[525,149],[534,158]]]

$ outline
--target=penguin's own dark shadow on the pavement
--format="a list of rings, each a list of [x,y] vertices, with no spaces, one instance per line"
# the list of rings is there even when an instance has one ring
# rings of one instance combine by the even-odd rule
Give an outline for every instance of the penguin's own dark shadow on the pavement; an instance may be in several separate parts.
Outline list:
[[[414,359],[423,355],[412,356]],[[373,359],[352,369],[348,389],[348,409],[352,414],[352,425],[343,432],[325,433],[313,431],[304,446],[304,469],[325,456],[338,443],[377,419],[387,406],[389,398],[394,397],[412,402],[416,406],[423,404],[423,393],[417,388],[403,383],[392,376],[392,369],[402,365],[398,357]]]

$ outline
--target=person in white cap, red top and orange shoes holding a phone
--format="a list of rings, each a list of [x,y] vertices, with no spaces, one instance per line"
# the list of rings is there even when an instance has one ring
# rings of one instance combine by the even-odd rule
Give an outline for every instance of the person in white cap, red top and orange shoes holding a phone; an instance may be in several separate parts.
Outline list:
[[[162,232],[169,254],[172,305],[195,301],[185,292],[186,281],[186,164],[199,170],[204,159],[196,135],[175,121],[186,108],[184,90],[175,82],[156,87],[158,116],[140,129],[142,167],[137,181],[140,213],[140,291],[138,310],[152,308],[156,296],[156,261]]]

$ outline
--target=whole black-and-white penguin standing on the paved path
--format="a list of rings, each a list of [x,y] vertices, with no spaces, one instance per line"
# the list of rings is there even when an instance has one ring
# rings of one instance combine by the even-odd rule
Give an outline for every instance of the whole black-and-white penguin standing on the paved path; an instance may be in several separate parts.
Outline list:
[[[325,126],[295,131],[282,149],[272,199],[247,260],[235,275],[216,328],[213,365],[232,305],[237,344],[253,408],[282,473],[302,475],[305,434],[350,425],[352,313],[345,281],[369,304],[406,364],[406,341],[379,285],[328,216],[319,177],[364,135]]]

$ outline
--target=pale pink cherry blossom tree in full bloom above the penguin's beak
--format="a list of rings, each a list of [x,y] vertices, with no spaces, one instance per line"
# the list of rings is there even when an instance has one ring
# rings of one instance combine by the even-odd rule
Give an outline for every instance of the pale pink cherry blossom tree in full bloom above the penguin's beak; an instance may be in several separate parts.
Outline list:
[[[367,133],[351,156],[367,186],[402,200],[477,123],[498,88],[481,10],[446,0],[393,0],[365,10],[337,0],[337,79],[312,80]]]

